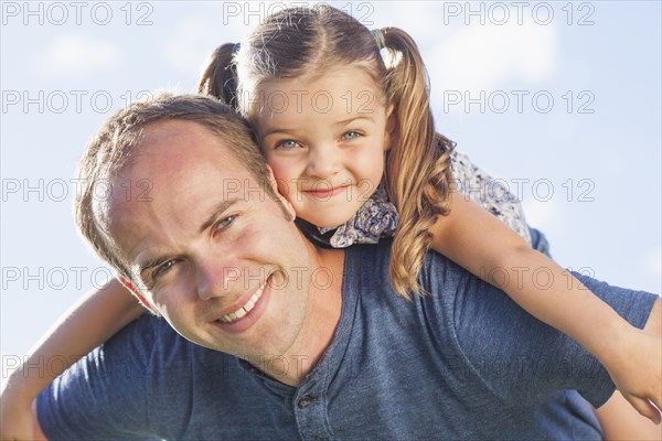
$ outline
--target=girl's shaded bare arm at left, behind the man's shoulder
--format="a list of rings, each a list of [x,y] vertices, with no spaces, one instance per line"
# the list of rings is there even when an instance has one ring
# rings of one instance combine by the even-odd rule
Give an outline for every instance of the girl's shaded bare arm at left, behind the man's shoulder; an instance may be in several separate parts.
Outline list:
[[[117,279],[74,304],[9,376],[1,395],[1,439],[30,439],[39,392],[145,311]]]

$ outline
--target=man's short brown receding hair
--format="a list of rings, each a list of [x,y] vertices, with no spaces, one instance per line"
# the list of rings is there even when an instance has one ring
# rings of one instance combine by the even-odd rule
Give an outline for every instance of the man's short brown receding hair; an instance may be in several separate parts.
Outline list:
[[[109,235],[108,219],[100,218],[104,215],[98,209],[95,213],[94,203],[111,195],[111,180],[139,150],[145,129],[171,120],[195,122],[210,130],[255,176],[265,193],[276,198],[275,191],[268,184],[267,164],[247,121],[215,98],[160,93],[149,100],[134,103],[117,111],[102,126],[81,158],[77,182],[82,190],[76,194],[74,211],[76,224],[93,249],[128,280],[134,280],[131,271]],[[97,185],[103,186],[100,192]]]

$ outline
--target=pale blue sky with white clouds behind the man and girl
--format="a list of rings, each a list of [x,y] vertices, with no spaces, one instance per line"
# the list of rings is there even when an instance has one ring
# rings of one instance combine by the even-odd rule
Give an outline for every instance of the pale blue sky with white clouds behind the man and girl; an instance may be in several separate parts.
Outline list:
[[[145,90],[194,92],[216,45],[282,4],[2,3],[3,377],[110,275],[72,216],[88,138]],[[414,36],[438,130],[521,197],[562,266],[660,293],[660,2],[334,4]]]

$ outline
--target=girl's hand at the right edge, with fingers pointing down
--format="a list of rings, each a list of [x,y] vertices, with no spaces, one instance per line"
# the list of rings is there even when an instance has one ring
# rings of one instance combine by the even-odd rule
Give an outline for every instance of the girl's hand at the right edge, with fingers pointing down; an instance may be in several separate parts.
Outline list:
[[[604,365],[616,387],[639,413],[659,424],[661,416],[658,409],[662,409],[662,336],[632,327],[620,338],[612,355]]]

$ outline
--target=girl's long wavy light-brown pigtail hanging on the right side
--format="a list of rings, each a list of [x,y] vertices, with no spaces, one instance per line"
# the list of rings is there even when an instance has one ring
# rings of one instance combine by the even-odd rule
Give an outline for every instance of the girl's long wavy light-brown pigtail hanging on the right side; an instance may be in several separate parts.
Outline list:
[[[428,230],[449,212],[452,143],[436,133],[425,64],[414,40],[397,28],[382,30],[393,61],[386,93],[396,130],[386,157],[386,187],[399,213],[388,276],[395,291],[421,293],[418,273],[430,247]],[[409,292],[408,292],[409,291]]]

